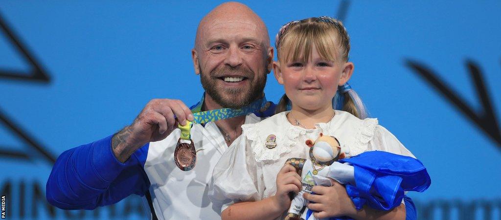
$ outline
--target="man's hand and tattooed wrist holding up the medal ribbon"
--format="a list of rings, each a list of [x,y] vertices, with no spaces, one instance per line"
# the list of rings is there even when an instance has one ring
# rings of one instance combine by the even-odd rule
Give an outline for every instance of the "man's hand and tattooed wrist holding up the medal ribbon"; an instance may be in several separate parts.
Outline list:
[[[125,162],[139,147],[152,141],[163,140],[178,123],[192,121],[191,110],[180,100],[153,99],[146,104],[134,122],[113,135],[113,153]]]

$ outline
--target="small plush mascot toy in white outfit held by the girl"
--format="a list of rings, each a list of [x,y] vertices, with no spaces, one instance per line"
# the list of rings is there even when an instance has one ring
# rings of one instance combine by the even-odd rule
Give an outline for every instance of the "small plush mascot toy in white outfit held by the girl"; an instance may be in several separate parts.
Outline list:
[[[309,209],[306,207],[307,200],[303,197],[303,194],[305,192],[312,193],[311,190],[314,185],[331,186],[330,179],[325,178],[325,176],[330,176],[330,166],[346,157],[345,152],[341,151],[339,141],[333,136],[320,133],[317,140],[307,140],[306,145],[310,147],[310,159],[290,158],[286,162],[296,167],[299,175],[301,175],[303,189],[292,199],[291,207],[285,219],[315,219],[312,214],[307,216]],[[338,165],[343,166],[341,163]],[[350,167],[348,167],[348,170],[350,170]]]

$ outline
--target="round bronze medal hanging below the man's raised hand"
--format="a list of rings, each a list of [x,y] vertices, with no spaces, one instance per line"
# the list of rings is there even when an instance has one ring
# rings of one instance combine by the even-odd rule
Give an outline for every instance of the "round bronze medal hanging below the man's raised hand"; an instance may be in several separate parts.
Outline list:
[[[174,150],[174,161],[176,166],[182,171],[190,171],[195,167],[196,151],[193,140],[190,143],[181,142],[181,138],[177,140],[176,149]]]

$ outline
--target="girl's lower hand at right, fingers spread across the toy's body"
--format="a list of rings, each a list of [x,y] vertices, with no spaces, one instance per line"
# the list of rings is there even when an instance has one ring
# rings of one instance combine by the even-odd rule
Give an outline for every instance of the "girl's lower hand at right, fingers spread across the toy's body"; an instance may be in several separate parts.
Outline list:
[[[355,214],[357,209],[346,193],[345,186],[332,179],[331,183],[330,187],[313,186],[312,191],[315,194],[303,194],[303,197],[310,201],[308,208],[314,211],[313,215],[317,218],[326,218]]]

